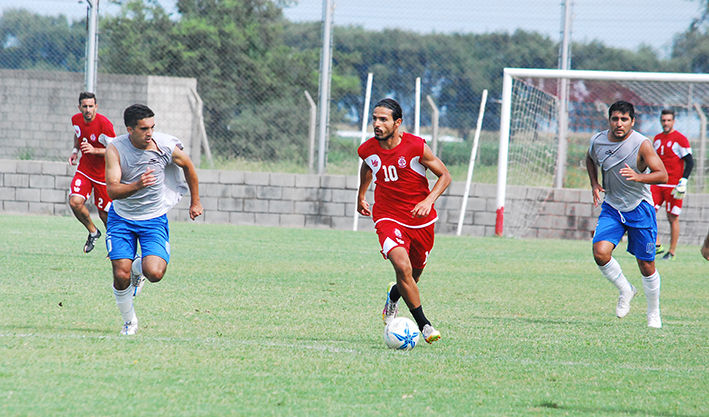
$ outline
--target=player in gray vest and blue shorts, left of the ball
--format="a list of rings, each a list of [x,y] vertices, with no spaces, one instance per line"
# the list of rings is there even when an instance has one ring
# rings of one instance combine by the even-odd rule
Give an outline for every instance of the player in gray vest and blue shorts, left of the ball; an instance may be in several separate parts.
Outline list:
[[[154,116],[142,104],[128,107],[123,114],[128,134],[115,138],[106,149],[106,188],[113,199],[106,247],[124,335],[138,331],[133,297],[145,278],[158,282],[167,270],[170,231],[166,213],[189,188],[190,218],[202,214],[194,164],[177,138],[154,131]],[[178,167],[184,171],[187,187]],[[142,258],[136,258],[138,243]]]

